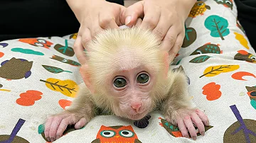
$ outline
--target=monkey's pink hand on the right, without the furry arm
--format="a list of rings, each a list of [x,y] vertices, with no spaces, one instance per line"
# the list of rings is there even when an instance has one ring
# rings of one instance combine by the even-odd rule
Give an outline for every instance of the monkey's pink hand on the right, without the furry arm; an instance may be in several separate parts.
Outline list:
[[[205,134],[205,126],[209,125],[208,117],[199,109],[178,109],[168,112],[165,115],[166,121],[171,122],[172,125],[178,125],[183,137],[191,137],[196,140],[197,131],[194,125],[198,127],[201,135]]]

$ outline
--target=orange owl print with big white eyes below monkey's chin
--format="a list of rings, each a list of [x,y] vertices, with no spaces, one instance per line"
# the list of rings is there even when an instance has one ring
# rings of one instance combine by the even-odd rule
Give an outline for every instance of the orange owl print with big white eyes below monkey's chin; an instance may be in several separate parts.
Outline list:
[[[139,141],[131,125],[110,126],[102,125],[97,137],[92,143],[142,143]]]

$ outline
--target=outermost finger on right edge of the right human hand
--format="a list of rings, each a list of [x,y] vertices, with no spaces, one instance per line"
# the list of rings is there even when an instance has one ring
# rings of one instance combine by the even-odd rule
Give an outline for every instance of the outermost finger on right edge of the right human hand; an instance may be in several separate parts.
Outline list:
[[[178,51],[181,50],[181,45],[183,43],[183,39],[184,39],[183,34],[179,34],[176,39],[176,42],[174,44],[174,47],[171,47],[171,50],[169,50],[169,55],[170,55],[171,60],[174,59],[176,57],[176,55],[178,54]]]

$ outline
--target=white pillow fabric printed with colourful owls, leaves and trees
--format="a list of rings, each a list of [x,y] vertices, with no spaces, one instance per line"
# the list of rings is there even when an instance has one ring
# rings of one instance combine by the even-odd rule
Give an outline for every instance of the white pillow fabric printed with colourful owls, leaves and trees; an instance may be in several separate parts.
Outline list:
[[[199,143],[256,142],[255,51],[236,17],[233,1],[197,1],[171,66],[183,67],[191,100],[210,120]],[[0,142],[46,143],[47,116],[68,108],[82,83],[76,36],[0,42]],[[195,142],[181,137],[161,113],[150,115],[145,128],[114,115],[97,116],[80,130],[69,127],[55,142]]]

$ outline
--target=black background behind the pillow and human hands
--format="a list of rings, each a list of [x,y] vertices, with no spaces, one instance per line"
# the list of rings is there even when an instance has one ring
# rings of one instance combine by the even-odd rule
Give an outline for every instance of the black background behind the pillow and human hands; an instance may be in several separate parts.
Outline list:
[[[0,0],[0,41],[64,36],[80,27],[65,0]],[[92,0],[93,1],[93,0]],[[122,0],[108,0],[124,5]],[[238,20],[256,48],[256,0],[235,0]]]

